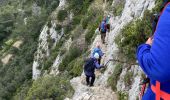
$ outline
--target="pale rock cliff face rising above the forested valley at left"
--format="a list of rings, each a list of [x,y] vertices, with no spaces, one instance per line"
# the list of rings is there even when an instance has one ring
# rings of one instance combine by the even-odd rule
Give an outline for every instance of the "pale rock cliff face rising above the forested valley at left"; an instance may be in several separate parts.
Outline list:
[[[56,11],[62,9],[65,5],[65,0],[60,0],[60,4]],[[55,12],[54,12],[55,13]],[[61,32],[57,32],[55,28],[57,27],[55,24],[55,21],[52,20],[49,24],[51,24],[51,27],[48,27],[47,25],[44,26],[44,28],[41,31],[41,34],[39,36],[39,45],[37,52],[35,53],[35,58],[33,62],[33,79],[37,79],[41,74],[41,69],[38,69],[40,63],[42,63],[42,59],[45,56],[50,56],[49,53],[49,43],[47,41],[48,36],[54,41],[53,45],[56,45],[56,43],[61,39],[61,37],[64,34],[64,31],[62,29]],[[58,58],[59,59],[59,58]],[[57,61],[55,61],[54,65],[56,65]]]

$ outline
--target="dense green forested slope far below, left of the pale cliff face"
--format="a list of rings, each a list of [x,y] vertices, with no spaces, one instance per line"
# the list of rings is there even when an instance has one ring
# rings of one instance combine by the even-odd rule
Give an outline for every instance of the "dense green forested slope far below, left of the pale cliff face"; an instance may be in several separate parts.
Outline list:
[[[41,3],[38,4],[41,13],[37,15],[32,12],[33,0],[9,0],[0,6],[0,52],[1,55],[14,54],[8,64],[3,65],[2,62],[0,64],[1,100],[12,98],[18,100],[20,94],[23,96],[27,94],[32,84],[32,64],[38,37],[49,13],[57,6],[55,2],[45,1],[46,4],[42,0],[36,2]],[[24,18],[27,19],[26,23]],[[11,41],[11,38],[14,41]],[[19,49],[11,47],[15,40],[23,41]]]

